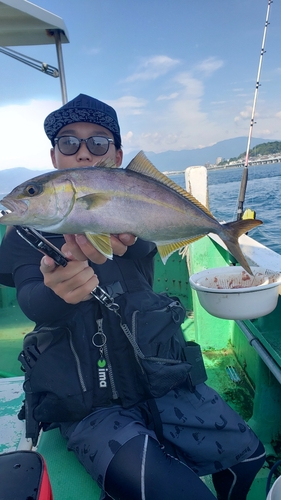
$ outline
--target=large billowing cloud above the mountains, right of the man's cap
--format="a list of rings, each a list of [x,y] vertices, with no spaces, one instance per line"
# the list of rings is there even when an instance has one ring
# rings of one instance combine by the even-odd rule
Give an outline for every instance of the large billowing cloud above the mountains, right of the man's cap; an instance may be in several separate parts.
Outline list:
[[[144,149],[156,153],[168,150],[192,149],[217,142],[220,127],[201,111],[204,84],[190,72],[181,72],[171,82],[176,91],[170,99],[148,102],[145,123],[127,124],[130,134],[122,136],[125,153]],[[141,119],[141,118],[140,118]],[[126,119],[124,120],[126,130]],[[129,128],[130,127],[130,128]]]

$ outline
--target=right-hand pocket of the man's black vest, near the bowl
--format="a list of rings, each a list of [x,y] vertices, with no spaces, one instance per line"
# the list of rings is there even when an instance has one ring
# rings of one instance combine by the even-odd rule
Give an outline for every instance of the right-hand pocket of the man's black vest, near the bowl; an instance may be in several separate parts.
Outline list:
[[[152,293],[149,301],[142,301],[141,309],[127,312],[129,321],[122,317],[123,331],[133,347],[142,383],[151,397],[163,396],[188,378],[191,365],[183,357],[181,331],[184,317],[184,308],[177,299]]]

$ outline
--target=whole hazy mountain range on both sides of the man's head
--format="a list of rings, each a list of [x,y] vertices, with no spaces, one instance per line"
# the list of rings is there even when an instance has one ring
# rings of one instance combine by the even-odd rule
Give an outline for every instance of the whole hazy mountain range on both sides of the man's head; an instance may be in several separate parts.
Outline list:
[[[272,142],[266,139],[252,139],[252,147],[264,142]],[[206,163],[215,163],[218,157],[225,159],[239,156],[246,150],[247,137],[236,137],[220,141],[213,146],[208,146],[202,149],[185,149],[182,151],[165,151],[164,153],[145,152],[150,161],[161,172],[169,170],[184,170],[192,165],[205,165]],[[133,151],[130,154],[124,155],[123,165],[126,166],[131,159],[138,153]],[[9,168],[0,170],[0,193],[8,193],[15,186],[22,182],[31,179],[37,175],[41,175],[48,170],[30,170],[28,168]]]

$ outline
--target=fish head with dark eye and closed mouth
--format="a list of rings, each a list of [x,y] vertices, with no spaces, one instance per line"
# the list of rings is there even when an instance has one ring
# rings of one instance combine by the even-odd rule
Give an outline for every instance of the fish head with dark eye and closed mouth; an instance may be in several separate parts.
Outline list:
[[[0,223],[48,230],[58,226],[69,214],[75,196],[75,186],[67,171],[34,177],[0,201],[10,211],[1,217]]]

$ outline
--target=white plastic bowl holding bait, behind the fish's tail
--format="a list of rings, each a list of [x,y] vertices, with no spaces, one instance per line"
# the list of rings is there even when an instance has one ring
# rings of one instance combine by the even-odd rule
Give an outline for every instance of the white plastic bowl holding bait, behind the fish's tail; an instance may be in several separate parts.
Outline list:
[[[213,316],[224,319],[254,319],[265,316],[277,305],[281,274],[251,267],[206,269],[189,278],[200,304]]]

